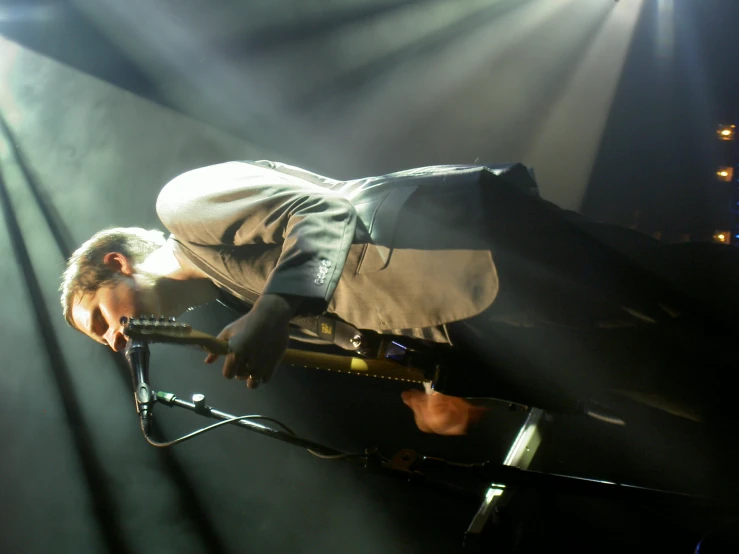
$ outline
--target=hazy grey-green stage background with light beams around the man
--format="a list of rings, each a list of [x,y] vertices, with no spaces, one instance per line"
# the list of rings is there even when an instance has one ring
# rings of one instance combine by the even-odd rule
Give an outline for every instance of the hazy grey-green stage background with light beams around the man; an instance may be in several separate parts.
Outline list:
[[[0,550],[455,552],[477,508],[237,429],[147,446],[125,370],[58,315],[63,255],[23,167],[75,245],[103,226],[156,226],[156,193],[177,173],[255,158],[340,178],[520,160],[565,207],[667,240],[710,236],[728,218],[715,129],[737,110],[737,23],[739,4],[719,0],[0,2]],[[186,319],[217,332],[231,317]],[[156,347],[154,386],[351,451],[499,460],[524,417],[501,407],[467,437],[428,436],[400,385],[282,368],[247,393],[199,355]],[[202,424],[158,417],[169,437]],[[721,488],[697,426],[635,421],[556,418],[537,467]],[[528,536],[551,550],[691,552],[718,521],[551,495],[543,506]]]

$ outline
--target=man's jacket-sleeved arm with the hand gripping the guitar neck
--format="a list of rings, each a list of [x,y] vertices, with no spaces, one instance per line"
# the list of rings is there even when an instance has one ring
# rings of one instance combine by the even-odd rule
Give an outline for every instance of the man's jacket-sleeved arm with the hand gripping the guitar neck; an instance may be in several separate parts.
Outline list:
[[[157,213],[180,240],[244,247],[246,255],[250,245],[281,249],[253,308],[218,335],[229,342],[226,378],[251,388],[269,381],[287,348],[290,318],[298,310],[323,311],[333,295],[354,237],[354,207],[318,183],[231,162],[174,179],[160,193]]]

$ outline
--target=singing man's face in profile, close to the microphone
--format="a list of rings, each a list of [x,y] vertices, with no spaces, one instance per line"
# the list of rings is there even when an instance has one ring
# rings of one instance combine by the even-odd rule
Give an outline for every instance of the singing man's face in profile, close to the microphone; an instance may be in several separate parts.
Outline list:
[[[120,352],[126,346],[122,317],[141,315],[140,292],[131,277],[121,276],[112,285],[86,294],[72,304],[72,320],[92,340]]]

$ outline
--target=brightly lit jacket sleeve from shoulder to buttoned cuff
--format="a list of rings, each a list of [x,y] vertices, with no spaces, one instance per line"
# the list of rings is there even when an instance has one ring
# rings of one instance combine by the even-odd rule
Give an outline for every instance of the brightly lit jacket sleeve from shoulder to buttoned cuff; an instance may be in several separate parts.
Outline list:
[[[356,212],[341,195],[261,162],[185,173],[164,187],[157,213],[175,236],[195,244],[279,245],[280,257],[262,293],[299,296],[306,305],[323,308],[356,226]]]

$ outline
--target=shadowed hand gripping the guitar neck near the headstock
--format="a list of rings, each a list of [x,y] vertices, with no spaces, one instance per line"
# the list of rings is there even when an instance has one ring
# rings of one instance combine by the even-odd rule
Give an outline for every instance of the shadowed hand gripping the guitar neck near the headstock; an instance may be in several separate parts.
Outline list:
[[[223,362],[223,376],[246,380],[250,389],[268,382],[285,354],[290,318],[299,305],[298,297],[265,294],[248,314],[224,327],[218,338],[228,340],[230,353]],[[217,359],[208,354],[205,363]]]

